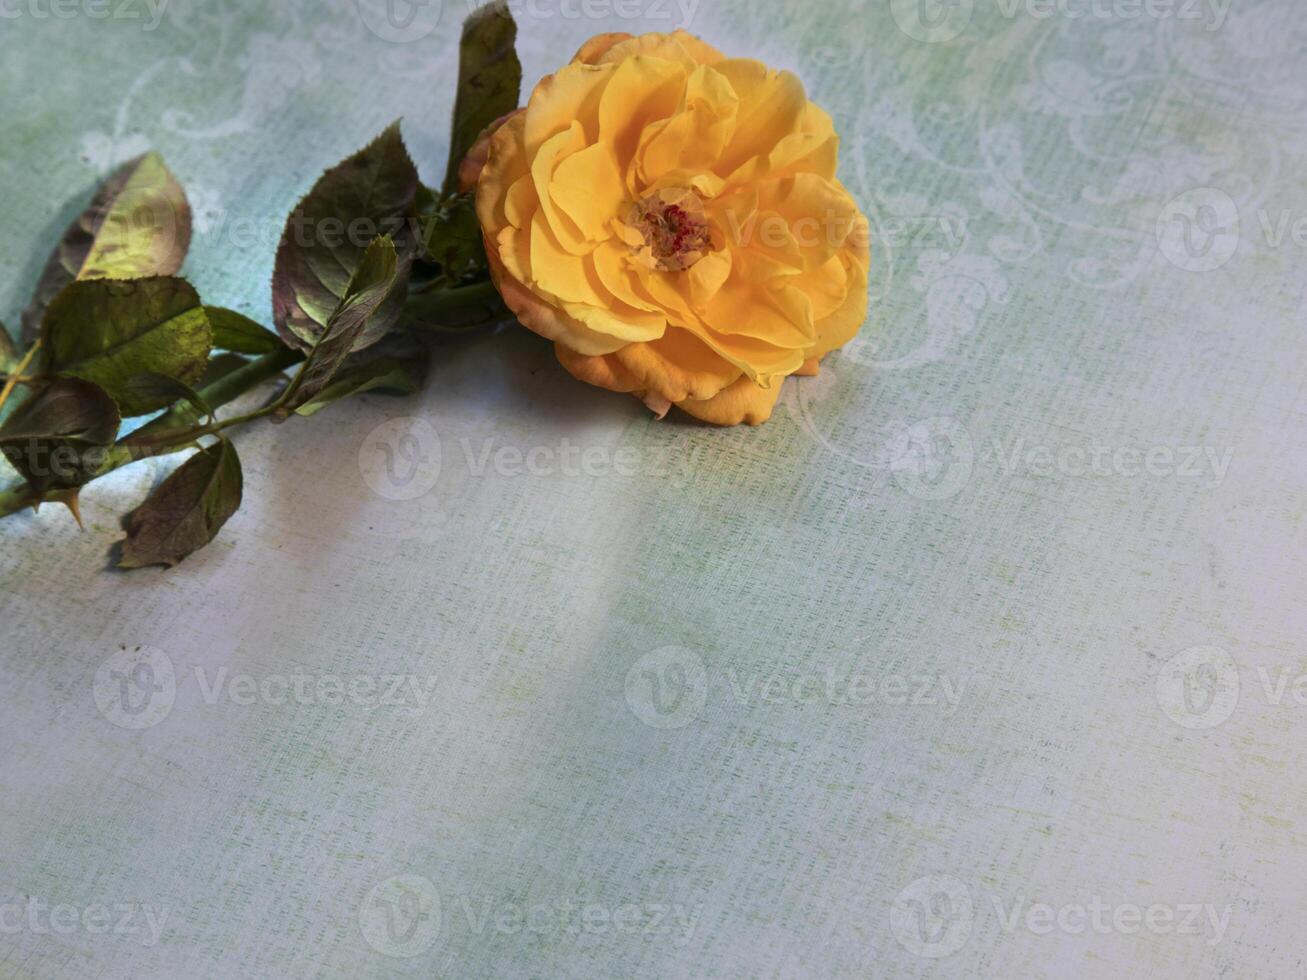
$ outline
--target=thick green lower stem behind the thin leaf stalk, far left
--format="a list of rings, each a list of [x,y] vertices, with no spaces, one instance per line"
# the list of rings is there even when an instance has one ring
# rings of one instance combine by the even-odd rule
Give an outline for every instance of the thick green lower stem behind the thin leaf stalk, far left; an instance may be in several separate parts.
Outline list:
[[[237,370],[222,375],[205,387],[200,395],[208,405],[220,408],[271,378],[276,378],[288,367],[303,359],[305,355],[301,351],[289,349],[265,354],[257,361],[251,361],[248,365],[242,365]],[[195,409],[187,404],[176,405],[153,422],[141,426],[127,436],[125,440],[110,449],[105,459],[105,466],[98,476],[105,476],[150,456],[166,456],[171,452],[178,452],[191,446],[200,435],[205,435],[210,430],[217,431],[217,429],[248,422],[260,414],[260,412],[254,412],[248,416],[226,419],[217,426],[196,429],[199,419]],[[61,495],[61,491],[52,490],[41,497],[39,500],[54,500]],[[5,487],[0,490],[0,517],[8,517],[10,514],[16,514],[34,503],[38,503],[38,498],[26,483]]]

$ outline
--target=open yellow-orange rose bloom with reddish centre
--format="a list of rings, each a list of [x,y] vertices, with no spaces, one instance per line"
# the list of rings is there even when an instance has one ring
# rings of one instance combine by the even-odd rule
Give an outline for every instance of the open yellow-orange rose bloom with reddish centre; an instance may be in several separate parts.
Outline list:
[[[758,425],[867,315],[867,218],[789,72],[698,38],[601,34],[491,127],[476,187],[508,308],[567,371]]]

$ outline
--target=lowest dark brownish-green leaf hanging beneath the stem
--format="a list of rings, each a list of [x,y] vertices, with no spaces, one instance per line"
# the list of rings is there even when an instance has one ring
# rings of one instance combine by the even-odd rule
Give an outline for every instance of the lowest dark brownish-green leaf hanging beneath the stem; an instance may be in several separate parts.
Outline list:
[[[200,449],[127,516],[118,567],[171,567],[204,547],[240,507],[243,482],[230,442]]]

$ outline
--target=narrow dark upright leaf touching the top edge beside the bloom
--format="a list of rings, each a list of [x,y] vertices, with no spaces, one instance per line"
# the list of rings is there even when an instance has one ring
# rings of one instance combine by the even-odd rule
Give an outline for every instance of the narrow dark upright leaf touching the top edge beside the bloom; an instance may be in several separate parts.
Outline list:
[[[463,24],[459,43],[459,94],[454,102],[450,163],[444,192],[459,189],[459,165],[481,132],[499,116],[518,108],[521,63],[514,47],[518,25],[507,4],[482,7]]]

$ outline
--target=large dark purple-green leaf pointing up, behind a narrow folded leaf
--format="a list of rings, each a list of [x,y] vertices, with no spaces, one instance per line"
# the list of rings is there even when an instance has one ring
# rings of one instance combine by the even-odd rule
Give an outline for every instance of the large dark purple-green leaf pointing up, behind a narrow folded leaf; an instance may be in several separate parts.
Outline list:
[[[401,282],[359,333],[356,349],[375,344],[391,329],[404,304],[416,248],[417,187],[417,167],[399,123],[314,184],[286,222],[272,277],[273,321],[286,344],[312,349],[345,298],[369,243],[380,235],[395,242]]]

